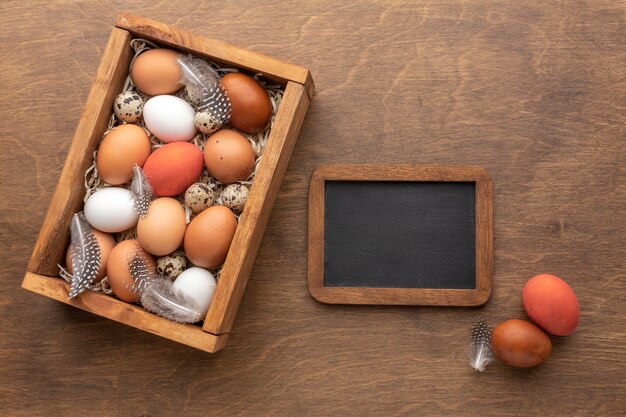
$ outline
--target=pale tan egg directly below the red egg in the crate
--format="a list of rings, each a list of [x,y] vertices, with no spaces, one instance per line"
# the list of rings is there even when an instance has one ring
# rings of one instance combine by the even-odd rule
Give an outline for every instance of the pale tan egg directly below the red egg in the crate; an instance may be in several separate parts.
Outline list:
[[[163,256],[183,243],[186,228],[183,206],[173,198],[157,198],[137,223],[137,240],[146,251]]]

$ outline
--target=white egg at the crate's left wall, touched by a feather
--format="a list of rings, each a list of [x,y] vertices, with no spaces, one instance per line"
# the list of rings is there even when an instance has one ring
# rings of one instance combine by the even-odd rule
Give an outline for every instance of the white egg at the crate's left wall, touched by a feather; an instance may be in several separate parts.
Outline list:
[[[102,232],[122,232],[137,225],[139,220],[133,203],[133,194],[129,190],[103,188],[85,202],[85,218],[91,226]]]

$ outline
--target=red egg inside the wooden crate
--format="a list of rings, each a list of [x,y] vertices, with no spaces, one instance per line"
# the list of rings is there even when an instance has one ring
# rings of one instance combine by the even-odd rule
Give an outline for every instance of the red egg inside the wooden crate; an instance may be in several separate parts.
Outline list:
[[[193,143],[168,143],[150,154],[143,172],[156,196],[173,197],[200,178],[202,162],[202,151]]]

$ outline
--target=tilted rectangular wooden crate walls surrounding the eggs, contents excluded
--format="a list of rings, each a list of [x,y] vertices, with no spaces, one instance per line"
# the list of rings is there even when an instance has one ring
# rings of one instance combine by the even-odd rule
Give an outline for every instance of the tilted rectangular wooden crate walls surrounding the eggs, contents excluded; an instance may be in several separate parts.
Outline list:
[[[276,193],[283,180],[309,101],[313,94],[310,72],[262,54],[127,13],[117,17],[56,191],[35,243],[22,287],[94,314],[180,343],[216,352],[226,344]],[[133,56],[131,39],[140,37],[163,46],[237,67],[285,87],[263,160],[250,189],[245,209],[221,272],[219,284],[203,326],[179,324],[115,297],[86,291],[67,297],[69,284],[58,276],[69,239],[72,215],[82,210],[83,176],[91,164],[109,117],[113,100],[122,91]]]

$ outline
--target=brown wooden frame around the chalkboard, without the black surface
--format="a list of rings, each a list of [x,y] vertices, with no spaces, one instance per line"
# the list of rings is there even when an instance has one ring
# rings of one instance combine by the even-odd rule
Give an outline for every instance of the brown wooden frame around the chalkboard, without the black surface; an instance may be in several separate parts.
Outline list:
[[[373,288],[324,286],[324,198],[326,181],[473,182],[476,201],[476,288]],[[493,269],[493,186],[489,173],[475,166],[324,165],[309,187],[308,286],[327,304],[478,306],[491,295]]]

